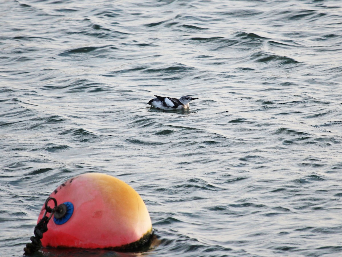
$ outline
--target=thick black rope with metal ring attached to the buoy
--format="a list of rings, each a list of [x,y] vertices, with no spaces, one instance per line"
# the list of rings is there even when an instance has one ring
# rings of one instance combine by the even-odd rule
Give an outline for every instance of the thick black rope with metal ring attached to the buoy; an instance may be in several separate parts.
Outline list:
[[[48,206],[48,202],[50,200],[53,200],[55,203],[55,207],[51,208],[50,206]],[[31,243],[27,243],[26,247],[24,248],[24,254],[25,255],[32,255],[35,252],[39,251],[39,249],[42,247],[42,243],[41,243],[41,239],[43,238],[43,233],[48,231],[48,223],[49,220],[51,219],[53,213],[56,211],[57,209],[57,201],[55,198],[53,197],[49,197],[46,201],[45,201],[45,213],[43,218],[37,223],[35,230],[34,230],[34,234],[35,236],[31,236],[30,240]],[[46,216],[48,212],[51,212],[50,216]]]

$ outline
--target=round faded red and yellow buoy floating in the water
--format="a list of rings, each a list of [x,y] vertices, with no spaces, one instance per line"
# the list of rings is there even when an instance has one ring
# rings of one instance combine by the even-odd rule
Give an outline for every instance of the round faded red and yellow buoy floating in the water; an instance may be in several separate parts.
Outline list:
[[[152,234],[140,195],[113,176],[82,174],[58,186],[50,197],[64,204],[64,210],[49,221],[43,247],[134,249]],[[53,204],[50,201],[48,206]],[[38,221],[44,212],[43,206]]]

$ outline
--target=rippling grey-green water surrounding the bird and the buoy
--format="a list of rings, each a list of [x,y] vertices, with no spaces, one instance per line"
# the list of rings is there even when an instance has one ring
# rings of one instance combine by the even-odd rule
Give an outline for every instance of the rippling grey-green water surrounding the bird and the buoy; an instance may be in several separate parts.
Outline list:
[[[43,256],[342,255],[341,18],[339,0],[1,1],[1,256],[86,172],[141,195],[152,246]]]

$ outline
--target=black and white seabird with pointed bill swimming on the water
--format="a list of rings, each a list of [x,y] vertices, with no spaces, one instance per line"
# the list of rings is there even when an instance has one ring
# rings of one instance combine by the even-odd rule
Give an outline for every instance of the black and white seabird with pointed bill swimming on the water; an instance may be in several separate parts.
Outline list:
[[[171,97],[155,96],[146,105],[151,105],[161,110],[177,110],[189,108],[189,102],[198,98],[182,96],[180,99]]]

